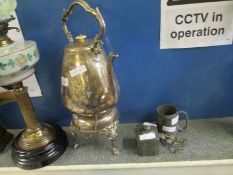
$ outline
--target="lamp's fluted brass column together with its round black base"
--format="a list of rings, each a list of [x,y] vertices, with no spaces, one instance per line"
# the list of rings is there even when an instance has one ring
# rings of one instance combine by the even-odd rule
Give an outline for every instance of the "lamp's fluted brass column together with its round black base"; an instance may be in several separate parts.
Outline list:
[[[58,125],[37,120],[27,88],[22,82],[6,87],[13,90],[16,101],[27,125],[13,141],[12,158],[23,169],[35,169],[58,159],[65,151],[68,140]]]

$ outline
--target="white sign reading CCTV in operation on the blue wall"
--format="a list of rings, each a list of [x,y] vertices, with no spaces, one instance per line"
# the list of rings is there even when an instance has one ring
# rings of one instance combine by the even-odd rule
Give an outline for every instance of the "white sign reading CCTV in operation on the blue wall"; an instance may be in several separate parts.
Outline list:
[[[233,0],[161,0],[160,48],[232,44]]]

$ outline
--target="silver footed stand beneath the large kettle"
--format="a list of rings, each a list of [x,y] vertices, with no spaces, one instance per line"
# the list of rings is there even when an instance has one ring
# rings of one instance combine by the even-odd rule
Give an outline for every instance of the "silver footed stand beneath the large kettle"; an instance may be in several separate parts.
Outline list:
[[[80,146],[79,136],[82,135],[86,139],[90,139],[96,134],[101,134],[111,141],[112,153],[114,155],[119,154],[119,149],[116,145],[118,118],[119,113],[116,107],[94,117],[73,114],[70,131],[74,138],[74,148],[77,149]]]

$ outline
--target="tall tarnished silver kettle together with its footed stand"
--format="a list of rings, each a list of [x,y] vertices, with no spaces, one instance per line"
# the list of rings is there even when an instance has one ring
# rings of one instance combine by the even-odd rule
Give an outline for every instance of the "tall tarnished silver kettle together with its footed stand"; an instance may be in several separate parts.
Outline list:
[[[80,34],[74,40],[68,31],[68,16],[78,6],[93,15],[100,24],[100,33],[94,39]],[[107,57],[103,49],[101,39],[105,33],[105,22],[98,8],[93,9],[79,0],[64,10],[62,24],[70,42],[65,48],[62,65],[62,99],[73,113],[70,128],[75,139],[74,147],[80,145],[80,136],[90,138],[102,134],[111,141],[112,153],[116,155],[119,153],[116,145],[119,88],[112,64],[117,55],[110,53]]]

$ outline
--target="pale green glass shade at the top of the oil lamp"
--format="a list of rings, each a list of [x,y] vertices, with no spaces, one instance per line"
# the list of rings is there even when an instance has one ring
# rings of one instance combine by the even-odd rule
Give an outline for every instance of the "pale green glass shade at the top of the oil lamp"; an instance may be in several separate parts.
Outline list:
[[[16,0],[0,0],[0,20],[10,18],[17,6]]]

